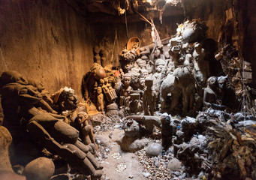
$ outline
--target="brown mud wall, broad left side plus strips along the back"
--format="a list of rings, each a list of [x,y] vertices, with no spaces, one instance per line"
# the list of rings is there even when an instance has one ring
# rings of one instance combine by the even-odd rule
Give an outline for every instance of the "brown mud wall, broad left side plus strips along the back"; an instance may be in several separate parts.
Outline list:
[[[189,9],[192,11],[164,16],[162,24],[155,18],[161,39],[175,34],[176,24],[185,18],[201,18],[209,26],[208,37],[218,40],[223,3],[200,0]],[[93,16],[90,19],[95,23],[78,14],[66,1],[0,0],[0,73],[20,71],[41,81],[50,93],[68,86],[81,98],[83,75],[93,63],[93,46],[101,44],[108,52],[109,62],[117,66],[119,52],[128,38],[139,37],[141,46],[152,43],[149,23],[128,22],[127,36],[124,22],[109,19],[97,23]]]

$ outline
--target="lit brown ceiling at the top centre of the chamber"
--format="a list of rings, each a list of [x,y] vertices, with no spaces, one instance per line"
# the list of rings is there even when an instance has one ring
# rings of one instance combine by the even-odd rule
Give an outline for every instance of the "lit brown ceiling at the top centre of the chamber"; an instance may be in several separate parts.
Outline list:
[[[182,0],[66,0],[74,10],[92,22],[103,22],[112,18],[113,23],[140,21],[146,18],[182,15]],[[137,18],[135,18],[137,17]],[[116,22],[118,21],[118,22]]]

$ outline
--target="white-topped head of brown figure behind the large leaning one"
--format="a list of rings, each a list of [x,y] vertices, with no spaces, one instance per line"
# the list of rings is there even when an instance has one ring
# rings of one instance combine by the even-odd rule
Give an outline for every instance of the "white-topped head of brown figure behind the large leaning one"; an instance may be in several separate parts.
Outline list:
[[[79,103],[77,96],[74,94],[74,89],[68,87],[63,89],[57,102],[62,111],[74,110],[77,108],[77,104]]]

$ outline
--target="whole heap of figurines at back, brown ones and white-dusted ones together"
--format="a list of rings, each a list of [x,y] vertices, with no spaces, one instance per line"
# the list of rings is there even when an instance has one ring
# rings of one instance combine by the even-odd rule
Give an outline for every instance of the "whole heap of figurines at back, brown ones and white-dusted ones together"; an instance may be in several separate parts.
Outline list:
[[[199,43],[204,37],[194,28],[196,23],[186,26],[168,46],[143,46],[140,53],[122,51],[121,69],[95,63],[83,79],[84,98],[101,112],[119,107],[124,115],[154,115],[155,111],[195,115],[202,107],[223,109],[224,94],[230,92],[227,77],[210,73],[208,58],[214,52]]]

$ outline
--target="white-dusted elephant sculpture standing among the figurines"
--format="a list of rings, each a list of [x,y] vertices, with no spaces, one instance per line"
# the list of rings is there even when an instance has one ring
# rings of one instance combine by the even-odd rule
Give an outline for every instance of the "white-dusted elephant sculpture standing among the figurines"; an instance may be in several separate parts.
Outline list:
[[[167,95],[171,93],[170,111],[173,112],[179,104],[182,95],[182,113],[186,114],[193,110],[194,105],[194,76],[189,66],[176,68],[173,74],[168,74],[161,84],[160,102],[161,111],[166,108]]]

